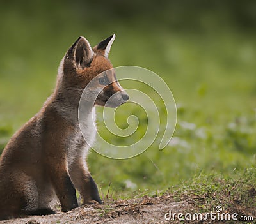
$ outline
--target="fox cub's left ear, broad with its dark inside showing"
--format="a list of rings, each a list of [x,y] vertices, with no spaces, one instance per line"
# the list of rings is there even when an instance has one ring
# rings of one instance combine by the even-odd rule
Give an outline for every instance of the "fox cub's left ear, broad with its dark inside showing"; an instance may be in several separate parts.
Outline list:
[[[88,40],[80,36],[76,42],[68,49],[65,59],[72,60],[76,68],[90,66],[94,53]]]

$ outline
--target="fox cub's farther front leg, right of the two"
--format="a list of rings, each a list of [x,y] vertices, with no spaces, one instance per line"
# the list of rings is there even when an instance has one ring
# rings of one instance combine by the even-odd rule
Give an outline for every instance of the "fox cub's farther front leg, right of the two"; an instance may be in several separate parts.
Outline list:
[[[74,183],[81,194],[83,200],[82,204],[87,204],[90,200],[95,200],[102,204],[98,187],[88,171],[86,162],[75,160],[69,170],[72,183]]]

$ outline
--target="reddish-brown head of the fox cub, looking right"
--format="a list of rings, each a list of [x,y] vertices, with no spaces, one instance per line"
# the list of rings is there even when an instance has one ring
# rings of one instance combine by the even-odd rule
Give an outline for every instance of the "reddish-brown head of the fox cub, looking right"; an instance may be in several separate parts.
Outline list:
[[[65,95],[76,95],[77,98],[90,83],[88,95],[97,94],[95,105],[118,107],[125,103],[129,96],[116,80],[115,71],[108,59],[114,40],[115,34],[100,41],[92,49],[88,40],[80,36],[60,63],[58,91]],[[90,96],[86,98],[90,99]]]

